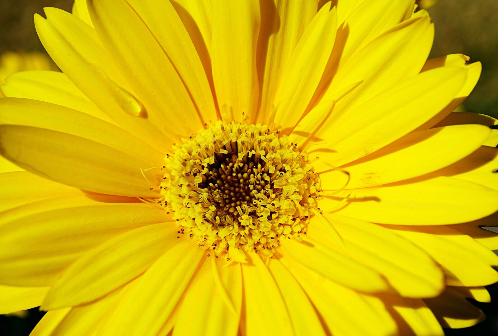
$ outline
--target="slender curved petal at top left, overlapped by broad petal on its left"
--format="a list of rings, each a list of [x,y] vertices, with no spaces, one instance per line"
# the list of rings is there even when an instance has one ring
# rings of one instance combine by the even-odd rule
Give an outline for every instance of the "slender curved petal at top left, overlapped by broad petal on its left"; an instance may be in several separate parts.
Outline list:
[[[218,117],[211,87],[195,46],[170,1],[126,1],[145,22],[185,84],[203,123]],[[171,118],[171,117],[170,117]]]

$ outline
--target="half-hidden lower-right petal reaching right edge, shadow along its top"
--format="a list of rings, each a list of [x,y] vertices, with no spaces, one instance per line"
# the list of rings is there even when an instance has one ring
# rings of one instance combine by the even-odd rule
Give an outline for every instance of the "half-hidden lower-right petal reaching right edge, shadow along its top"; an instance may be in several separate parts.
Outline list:
[[[498,281],[498,256],[451,226],[384,226],[427,252],[451,286],[486,286]],[[450,252],[449,252],[450,251]]]

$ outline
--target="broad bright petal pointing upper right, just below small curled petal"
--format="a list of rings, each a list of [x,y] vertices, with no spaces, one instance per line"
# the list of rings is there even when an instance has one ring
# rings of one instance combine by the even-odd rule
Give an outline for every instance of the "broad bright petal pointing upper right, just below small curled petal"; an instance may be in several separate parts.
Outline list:
[[[411,132],[453,99],[465,76],[465,70],[459,68],[434,69],[383,91],[358,109],[348,108],[347,113],[331,118],[328,127],[316,134],[328,143],[327,150],[309,152],[310,157],[321,159],[314,164],[316,171],[349,163]]]

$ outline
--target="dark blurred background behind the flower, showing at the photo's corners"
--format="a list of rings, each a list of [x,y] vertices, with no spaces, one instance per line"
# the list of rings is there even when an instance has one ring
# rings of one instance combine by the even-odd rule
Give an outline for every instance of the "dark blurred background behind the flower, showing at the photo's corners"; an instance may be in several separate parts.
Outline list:
[[[0,0],[0,54],[43,51],[33,14],[52,6],[71,11],[72,0]],[[464,53],[483,63],[483,74],[464,108],[498,117],[498,0],[439,0],[428,9],[436,35],[430,57]],[[494,302],[475,303],[488,319],[477,326],[447,330],[448,336],[498,335],[498,284],[488,286]],[[27,336],[44,313],[37,308],[24,316],[1,316],[0,336]],[[366,322],[367,323],[367,322]]]

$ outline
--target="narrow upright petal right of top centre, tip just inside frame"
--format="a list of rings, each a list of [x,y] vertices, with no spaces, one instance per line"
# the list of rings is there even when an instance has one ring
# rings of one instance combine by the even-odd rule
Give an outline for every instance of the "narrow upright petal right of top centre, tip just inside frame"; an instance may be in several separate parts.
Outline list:
[[[304,31],[275,93],[276,127],[293,127],[303,116],[332,51],[336,27],[336,10],[324,6]]]

